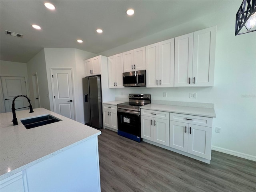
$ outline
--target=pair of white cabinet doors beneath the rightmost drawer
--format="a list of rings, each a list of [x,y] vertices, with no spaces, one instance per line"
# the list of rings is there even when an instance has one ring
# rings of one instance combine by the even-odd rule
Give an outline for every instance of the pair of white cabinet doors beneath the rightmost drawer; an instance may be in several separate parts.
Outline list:
[[[170,121],[170,147],[211,159],[212,128]]]

